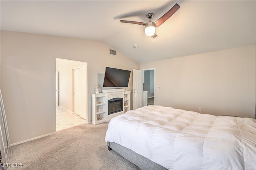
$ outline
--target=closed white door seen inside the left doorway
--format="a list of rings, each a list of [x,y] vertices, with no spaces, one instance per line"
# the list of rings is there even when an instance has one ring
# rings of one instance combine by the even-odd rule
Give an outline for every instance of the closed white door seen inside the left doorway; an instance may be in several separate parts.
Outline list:
[[[87,68],[86,65],[74,70],[74,112],[87,120]]]

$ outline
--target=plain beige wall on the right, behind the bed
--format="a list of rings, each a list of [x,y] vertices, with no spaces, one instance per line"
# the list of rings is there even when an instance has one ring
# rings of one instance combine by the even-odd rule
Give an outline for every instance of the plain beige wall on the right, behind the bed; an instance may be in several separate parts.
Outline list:
[[[156,68],[156,105],[254,118],[255,58],[251,45],[142,63],[140,68]]]

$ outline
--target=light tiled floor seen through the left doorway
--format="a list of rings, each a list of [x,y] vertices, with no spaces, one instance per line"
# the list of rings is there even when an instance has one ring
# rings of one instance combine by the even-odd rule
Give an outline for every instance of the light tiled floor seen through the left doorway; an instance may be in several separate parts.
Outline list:
[[[83,123],[86,123],[86,121],[76,113],[71,113],[63,107],[56,106],[56,131],[81,125]]]

